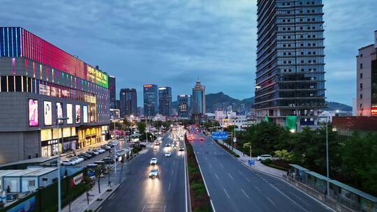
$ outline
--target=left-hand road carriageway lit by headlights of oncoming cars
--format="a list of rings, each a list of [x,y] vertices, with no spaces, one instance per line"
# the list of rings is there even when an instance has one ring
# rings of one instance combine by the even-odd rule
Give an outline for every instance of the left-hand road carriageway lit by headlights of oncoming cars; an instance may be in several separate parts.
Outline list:
[[[98,211],[186,211],[190,203],[187,202],[188,188],[185,187],[184,151],[165,147],[166,142],[172,143],[168,134],[163,137],[163,143],[156,146],[156,152],[150,149],[124,167],[123,183]],[[165,158],[169,149],[172,156]],[[157,165],[149,165],[154,157],[158,160]],[[160,176],[149,179],[149,172],[154,167]]]

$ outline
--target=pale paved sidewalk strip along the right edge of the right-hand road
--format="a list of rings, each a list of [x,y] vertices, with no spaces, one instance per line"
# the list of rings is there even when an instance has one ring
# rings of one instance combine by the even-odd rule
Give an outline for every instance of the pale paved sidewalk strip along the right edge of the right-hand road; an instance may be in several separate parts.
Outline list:
[[[223,144],[225,146],[228,146],[229,149],[232,149],[232,146],[230,146],[226,142],[223,142]],[[255,165],[249,166],[249,160],[250,160],[249,156],[246,156],[246,154],[244,155],[244,153],[242,153],[242,151],[239,151],[238,149],[235,149],[235,148],[232,149],[232,151],[234,151],[235,153],[237,153],[237,155],[239,155],[239,158],[237,158],[237,160],[239,160],[240,162],[242,162],[242,164],[245,165],[246,167],[250,167],[251,169],[256,169],[256,170],[258,170],[260,172],[265,172],[267,174],[271,174],[271,175],[277,176],[279,178],[283,178],[283,176],[286,175],[286,172],[284,172],[284,171],[281,171],[279,169],[274,169],[272,167],[267,167],[266,165],[263,165],[263,163],[261,163],[260,161],[256,160],[255,157],[251,158],[251,160],[255,161]]]

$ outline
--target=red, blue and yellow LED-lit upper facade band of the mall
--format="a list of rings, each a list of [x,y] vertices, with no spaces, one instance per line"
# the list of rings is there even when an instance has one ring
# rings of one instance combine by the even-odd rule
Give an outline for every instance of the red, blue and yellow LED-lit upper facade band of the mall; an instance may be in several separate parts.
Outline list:
[[[0,52],[0,56],[23,56],[108,89],[108,75],[21,27],[0,27]]]

